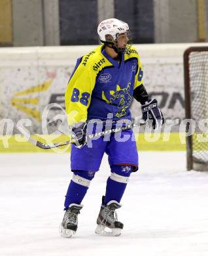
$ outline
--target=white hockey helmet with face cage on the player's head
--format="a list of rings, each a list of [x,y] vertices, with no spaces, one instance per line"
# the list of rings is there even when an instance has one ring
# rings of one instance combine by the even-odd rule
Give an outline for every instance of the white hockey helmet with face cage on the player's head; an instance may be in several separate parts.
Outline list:
[[[116,18],[108,18],[107,20],[100,22],[97,27],[97,33],[100,41],[112,47],[117,53],[127,51],[127,46],[118,47],[118,37],[120,34],[126,33],[128,39],[130,39],[130,29],[126,22]]]

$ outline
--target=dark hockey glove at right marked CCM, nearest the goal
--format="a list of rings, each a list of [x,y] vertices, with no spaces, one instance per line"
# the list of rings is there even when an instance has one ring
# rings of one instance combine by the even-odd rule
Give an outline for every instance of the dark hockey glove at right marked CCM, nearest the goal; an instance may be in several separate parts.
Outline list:
[[[148,100],[146,104],[141,105],[141,111],[143,119],[145,121],[150,120],[153,129],[158,129],[158,127],[164,124],[164,116],[160,111],[160,108],[158,108],[158,102],[155,98]]]

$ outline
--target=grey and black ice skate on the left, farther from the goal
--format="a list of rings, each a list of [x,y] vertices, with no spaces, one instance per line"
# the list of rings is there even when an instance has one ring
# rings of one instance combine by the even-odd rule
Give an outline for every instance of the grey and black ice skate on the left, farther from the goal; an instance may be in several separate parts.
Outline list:
[[[63,221],[60,225],[60,233],[64,238],[71,238],[77,231],[78,214],[83,205],[71,203],[69,209],[65,211]]]

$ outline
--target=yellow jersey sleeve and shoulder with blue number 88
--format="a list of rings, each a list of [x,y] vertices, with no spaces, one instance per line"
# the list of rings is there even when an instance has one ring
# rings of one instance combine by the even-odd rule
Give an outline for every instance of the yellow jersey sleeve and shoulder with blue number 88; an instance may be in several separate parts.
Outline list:
[[[101,53],[103,45],[85,54],[71,76],[65,92],[65,109],[69,125],[86,121],[92,91],[97,74],[107,66],[113,66]]]

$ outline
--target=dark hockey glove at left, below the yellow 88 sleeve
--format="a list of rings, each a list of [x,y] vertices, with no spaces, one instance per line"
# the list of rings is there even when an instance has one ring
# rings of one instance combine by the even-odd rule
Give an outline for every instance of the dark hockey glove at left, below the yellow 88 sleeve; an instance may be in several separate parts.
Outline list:
[[[73,143],[77,148],[82,148],[82,146],[86,145],[86,123],[80,122],[76,123],[72,127],[73,138],[77,140],[77,142]]]

